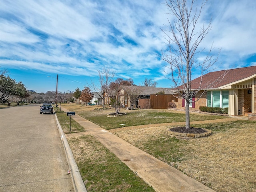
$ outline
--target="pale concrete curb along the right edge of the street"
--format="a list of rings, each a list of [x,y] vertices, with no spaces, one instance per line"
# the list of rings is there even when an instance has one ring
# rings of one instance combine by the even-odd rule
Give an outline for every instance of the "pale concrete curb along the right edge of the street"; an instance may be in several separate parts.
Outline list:
[[[65,153],[66,153],[66,157],[67,157],[67,160],[68,160],[68,165],[69,165],[69,168],[70,168],[70,174],[71,174],[71,177],[72,177],[72,182],[73,182],[73,186],[74,186],[74,190],[75,192],[87,192],[86,190],[86,187],[84,186],[84,182],[82,180],[82,176],[79,172],[79,169],[78,169],[78,166],[76,164],[76,160],[73,156],[73,153],[72,153],[72,150],[68,144],[68,140],[60,126],[60,122],[57,118],[57,115],[55,115],[55,120],[56,120],[56,124],[58,126],[58,130],[59,130],[59,133],[60,133],[60,139],[62,141],[62,144],[64,146],[64,149],[65,149]],[[68,170],[67,170],[68,171]]]

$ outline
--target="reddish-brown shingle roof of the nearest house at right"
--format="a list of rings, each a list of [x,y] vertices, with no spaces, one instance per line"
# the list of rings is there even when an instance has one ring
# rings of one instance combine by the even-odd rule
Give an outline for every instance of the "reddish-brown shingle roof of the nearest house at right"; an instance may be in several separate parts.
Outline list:
[[[224,74],[225,70],[210,72],[202,76],[202,86],[201,88],[206,88],[210,83],[214,80],[218,79],[220,76]],[[220,78],[219,82],[214,83],[210,88],[218,88],[220,86],[224,86],[226,84],[230,84],[232,82],[236,82],[242,80],[244,78],[248,78],[252,75],[256,74],[256,66],[244,67],[244,68],[236,68],[229,70],[224,78]],[[198,77],[191,81],[191,89],[198,89],[200,86],[201,77]]]

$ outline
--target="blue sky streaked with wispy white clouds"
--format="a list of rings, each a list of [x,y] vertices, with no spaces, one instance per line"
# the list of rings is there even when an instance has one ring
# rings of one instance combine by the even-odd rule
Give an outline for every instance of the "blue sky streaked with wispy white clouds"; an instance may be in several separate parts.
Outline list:
[[[147,78],[170,88],[162,60],[168,13],[164,0],[0,0],[0,67],[38,93],[56,91],[57,74],[60,92],[97,84],[103,67],[136,85]],[[255,0],[209,0],[198,24],[212,18],[212,30],[197,59],[213,44],[213,70],[255,66],[255,13]]]

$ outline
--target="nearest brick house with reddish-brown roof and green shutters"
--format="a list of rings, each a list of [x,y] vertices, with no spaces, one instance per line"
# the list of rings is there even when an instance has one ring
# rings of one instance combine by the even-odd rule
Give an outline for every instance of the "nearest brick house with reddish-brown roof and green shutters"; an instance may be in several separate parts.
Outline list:
[[[224,71],[210,72],[191,81],[191,89],[198,89],[199,85],[209,84],[221,76]],[[202,88],[204,88],[202,86]],[[197,100],[199,94],[191,101]],[[184,109],[182,98],[176,102],[177,108]],[[231,69],[224,78],[212,86],[197,102],[191,102],[190,108],[199,110],[200,106],[227,108],[232,116],[256,113],[256,66]]]

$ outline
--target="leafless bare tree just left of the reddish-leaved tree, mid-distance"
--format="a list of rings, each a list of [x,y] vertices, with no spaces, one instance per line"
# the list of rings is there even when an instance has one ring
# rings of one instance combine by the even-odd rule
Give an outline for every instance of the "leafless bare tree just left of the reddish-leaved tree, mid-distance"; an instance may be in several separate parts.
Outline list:
[[[88,87],[93,91],[97,92],[102,99],[103,109],[105,105],[105,98],[108,96],[108,91],[110,90],[110,84],[114,81],[115,71],[114,69],[103,67],[98,70],[98,82],[93,81],[88,84]]]

